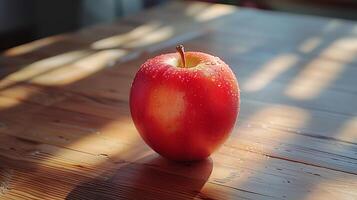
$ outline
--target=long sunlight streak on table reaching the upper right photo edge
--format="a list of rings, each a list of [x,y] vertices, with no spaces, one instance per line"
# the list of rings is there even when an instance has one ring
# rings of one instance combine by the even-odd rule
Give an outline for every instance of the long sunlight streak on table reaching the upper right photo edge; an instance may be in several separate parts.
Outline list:
[[[356,55],[357,38],[346,37],[334,41],[316,59],[303,67],[288,85],[285,94],[300,100],[318,97],[340,77],[345,65],[356,59]]]

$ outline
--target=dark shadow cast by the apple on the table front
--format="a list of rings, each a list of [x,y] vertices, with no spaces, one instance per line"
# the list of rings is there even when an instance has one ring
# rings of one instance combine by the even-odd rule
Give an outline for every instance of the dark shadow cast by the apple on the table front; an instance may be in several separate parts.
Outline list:
[[[211,159],[182,163],[147,156],[108,178],[98,177],[76,186],[66,199],[193,199],[212,167]]]

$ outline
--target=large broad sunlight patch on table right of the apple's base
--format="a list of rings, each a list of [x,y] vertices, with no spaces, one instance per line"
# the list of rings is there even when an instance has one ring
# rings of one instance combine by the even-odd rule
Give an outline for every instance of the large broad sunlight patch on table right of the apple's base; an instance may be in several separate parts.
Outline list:
[[[270,169],[275,170],[275,167],[270,169],[269,167],[279,162],[270,156],[289,156],[285,154],[286,149],[279,149],[279,147],[281,144],[294,143],[296,135],[288,131],[299,130],[309,122],[310,118],[310,113],[305,109],[276,104],[267,106],[254,113],[249,119],[241,121],[239,128],[234,130],[237,134],[231,136],[213,155],[217,163],[230,164],[215,166],[209,182],[240,189],[259,188],[264,181],[273,185],[284,184],[282,183],[284,177],[268,173]],[[281,129],[274,130],[269,127],[281,127]],[[212,190],[215,188],[217,187],[211,187],[206,183],[201,192],[210,196],[214,194]]]

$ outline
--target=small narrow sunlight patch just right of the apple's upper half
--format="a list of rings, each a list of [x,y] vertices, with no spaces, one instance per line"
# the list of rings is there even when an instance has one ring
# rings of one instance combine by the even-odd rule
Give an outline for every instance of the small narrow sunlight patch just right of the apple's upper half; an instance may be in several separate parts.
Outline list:
[[[256,92],[266,87],[277,76],[293,67],[298,62],[295,54],[281,54],[264,64],[243,84],[243,89],[248,92]]]

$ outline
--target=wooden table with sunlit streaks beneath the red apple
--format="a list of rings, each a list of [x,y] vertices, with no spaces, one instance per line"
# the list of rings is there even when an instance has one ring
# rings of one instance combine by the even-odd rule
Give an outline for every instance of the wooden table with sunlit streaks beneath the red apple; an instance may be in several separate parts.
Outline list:
[[[241,113],[210,159],[150,150],[128,93],[186,49],[238,76]],[[0,57],[0,199],[357,199],[357,23],[170,2]]]

